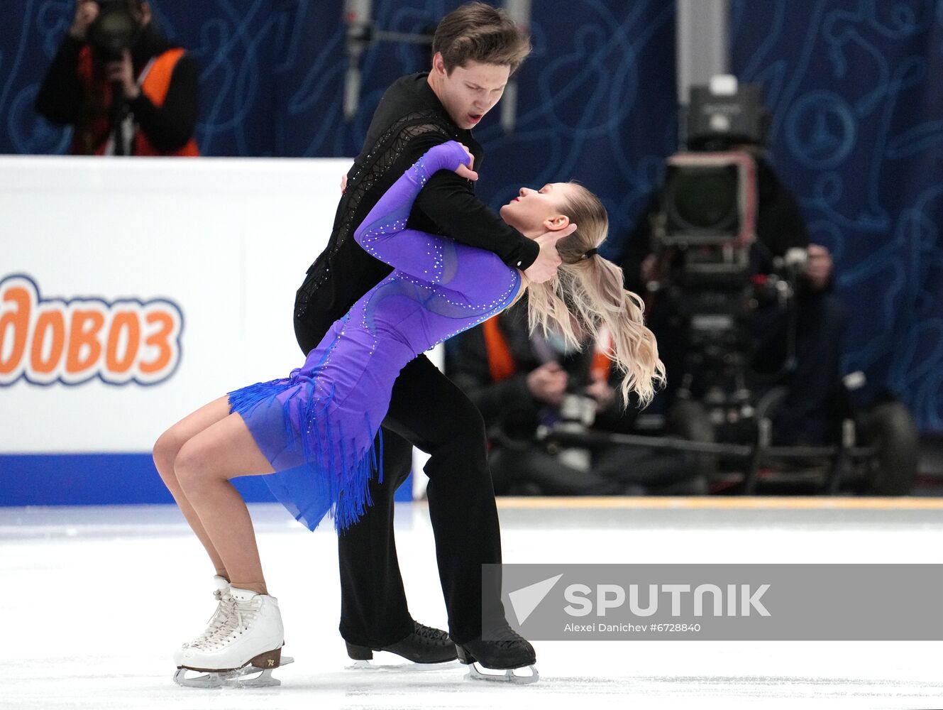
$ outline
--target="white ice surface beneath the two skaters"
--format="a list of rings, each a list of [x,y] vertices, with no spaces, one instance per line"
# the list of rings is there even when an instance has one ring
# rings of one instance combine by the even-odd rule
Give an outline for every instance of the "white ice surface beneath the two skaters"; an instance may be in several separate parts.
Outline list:
[[[337,542],[253,507],[285,621],[278,688],[175,686],[171,655],[214,609],[212,569],[172,507],[0,509],[0,708],[939,708],[943,643],[538,642],[537,685],[378,654],[346,669]],[[503,508],[505,562],[933,563],[940,510]],[[428,512],[397,509],[412,614],[444,628]],[[941,600],[943,602],[943,600]]]

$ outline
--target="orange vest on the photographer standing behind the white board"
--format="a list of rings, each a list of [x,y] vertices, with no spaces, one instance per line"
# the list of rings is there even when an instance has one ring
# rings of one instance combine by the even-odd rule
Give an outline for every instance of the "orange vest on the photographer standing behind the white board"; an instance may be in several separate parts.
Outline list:
[[[158,108],[163,106],[164,101],[167,99],[171,77],[174,76],[174,67],[177,61],[183,57],[184,52],[185,50],[176,47],[168,49],[157,56],[147,76],[141,82],[141,92]],[[104,155],[110,132],[108,109],[111,106],[111,85],[95,72],[90,47],[84,47],[78,55],[78,78],[86,94],[96,97],[97,101],[91,115],[80,119],[79,126],[75,129],[72,152],[77,155]],[[157,150],[154,144],[151,144],[147,136],[144,135],[144,132],[138,130],[134,134],[133,153],[136,156],[196,158],[200,155],[200,150],[193,138],[190,138],[187,144],[177,150]]]

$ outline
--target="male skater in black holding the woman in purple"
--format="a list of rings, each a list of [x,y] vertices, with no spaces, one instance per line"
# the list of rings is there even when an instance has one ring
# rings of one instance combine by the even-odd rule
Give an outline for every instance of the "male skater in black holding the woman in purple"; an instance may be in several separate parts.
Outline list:
[[[507,77],[529,51],[530,42],[503,11],[471,3],[438,25],[432,71],[404,76],[384,94],[347,174],[330,241],[297,293],[295,333],[306,353],[357,298],[389,275],[389,266],[356,245],[354,229],[433,145],[465,144],[472,167],[480,168],[483,151],[471,129],[497,104]],[[526,239],[455,173],[439,172],[429,180],[408,226],[493,251],[538,282],[551,279],[560,263],[550,237]],[[425,466],[429,515],[451,641],[410,616],[396,558],[393,494],[409,473],[413,445],[431,457]],[[445,661],[455,658],[454,641],[465,658],[488,668],[534,663],[530,644],[506,626],[498,590],[482,590],[482,565],[501,562],[486,446],[484,423],[468,397],[425,356],[408,363],[384,421],[383,482],[372,482],[373,505],[339,537],[339,630],[352,658],[386,650],[417,662]]]

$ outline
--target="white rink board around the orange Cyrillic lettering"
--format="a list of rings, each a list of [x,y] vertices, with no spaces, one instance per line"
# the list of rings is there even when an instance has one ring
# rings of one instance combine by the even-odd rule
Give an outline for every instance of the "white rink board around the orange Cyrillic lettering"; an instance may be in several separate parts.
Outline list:
[[[0,158],[0,280],[25,274],[63,301],[162,298],[183,315],[178,366],[157,384],[0,387],[0,453],[148,450],[197,406],[299,366],[294,292],[350,164]],[[3,362],[15,338],[0,328]]]

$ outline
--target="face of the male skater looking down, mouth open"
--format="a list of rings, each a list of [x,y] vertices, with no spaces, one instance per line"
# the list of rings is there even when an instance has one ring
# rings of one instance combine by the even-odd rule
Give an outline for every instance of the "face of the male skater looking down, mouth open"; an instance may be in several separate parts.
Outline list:
[[[442,58],[436,54],[432,62],[436,75],[438,100],[460,128],[473,128],[494,108],[505,93],[511,69],[501,64],[468,61],[456,66],[452,74],[445,72]]]

